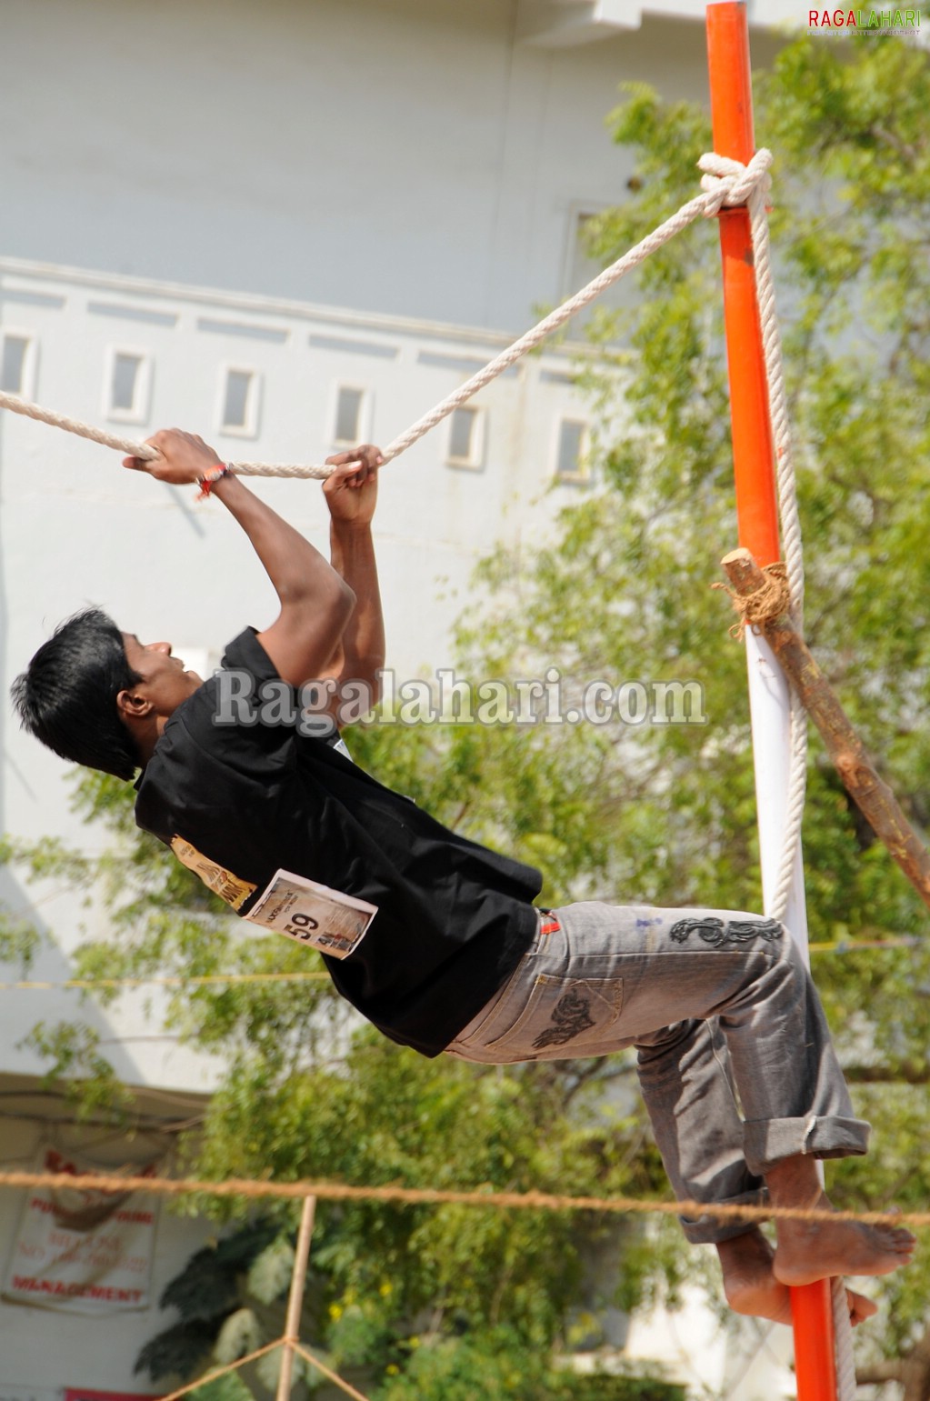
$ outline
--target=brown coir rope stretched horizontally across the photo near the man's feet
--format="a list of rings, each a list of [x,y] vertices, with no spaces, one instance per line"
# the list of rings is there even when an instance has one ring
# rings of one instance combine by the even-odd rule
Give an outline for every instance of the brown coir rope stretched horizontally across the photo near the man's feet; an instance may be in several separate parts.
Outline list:
[[[664,1216],[710,1216],[714,1220],[864,1222],[868,1226],[930,1226],[930,1212],[835,1212],[807,1206],[709,1205],[707,1202],[647,1202],[636,1196],[556,1196],[550,1192],[452,1191],[430,1187],[350,1187],[347,1182],[262,1182],[230,1177],[223,1182],[199,1178],[118,1177],[105,1173],[0,1173],[1,1187],[46,1187],[49,1191],[148,1192],[181,1196],[248,1196],[328,1202],[399,1202],[406,1206],[493,1206],[500,1210],[618,1212]],[[162,1398],[164,1401],[164,1398]]]

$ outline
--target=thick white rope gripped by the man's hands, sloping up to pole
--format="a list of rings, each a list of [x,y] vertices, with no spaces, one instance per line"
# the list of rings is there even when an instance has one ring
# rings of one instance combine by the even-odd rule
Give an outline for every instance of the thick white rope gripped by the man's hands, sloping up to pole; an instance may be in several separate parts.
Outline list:
[[[452,413],[454,409],[465,403],[473,394],[478,394],[486,384],[503,374],[515,360],[527,354],[528,350],[534,350],[541,345],[546,336],[550,336],[553,331],[557,331],[566,324],[576,312],[587,307],[595,297],[599,297],[602,291],[612,287],[615,282],[619,282],[627,272],[633,268],[639,268],[650,254],[654,254],[662,244],[667,244],[675,234],[679,234],[683,228],[692,224],[696,219],[702,216],[716,214],[720,207],[727,205],[744,205],[751,196],[752,191],[759,186],[768,177],[766,171],[772,163],[772,156],[769,151],[756,151],[752,161],[748,165],[738,165],[733,163],[735,170],[733,174],[721,175],[712,191],[689,199],[686,205],[667,219],[658,228],[654,228],[646,235],[634,248],[618,258],[616,262],[605,268],[602,273],[594,277],[585,287],[564,301],[555,311],[543,317],[538,325],[531,331],[527,331],[518,340],[514,340],[511,346],[501,350],[483,370],[479,370],[466,380],[465,384],[459,385],[452,394],[424,413],[422,419],[417,419],[405,433],[394,439],[392,443],[384,450],[384,460],[389,462],[392,458],[399,457],[401,453],[406,451],[413,443],[429,433],[430,429],[441,423],[444,417]],[[41,423],[49,423],[52,427],[64,429],[67,433],[77,433],[78,437],[90,439],[92,443],[101,443],[104,447],[116,448],[120,453],[126,453],[130,457],[139,457],[144,461],[153,461],[158,454],[154,448],[148,447],[146,443],[133,441],[132,439],[119,437],[115,433],[106,433],[102,429],[91,427],[88,423],[81,423],[78,419],[67,417],[63,413],[56,413],[52,409],[43,409],[38,403],[29,403],[27,399],[21,399],[15,394],[0,392],[0,408],[11,409],[14,413],[24,413],[27,417],[36,419]],[[333,468],[331,467],[296,467],[286,464],[269,464],[269,462],[233,462],[230,464],[233,471],[240,476],[310,476],[317,479],[324,479],[331,475]]]

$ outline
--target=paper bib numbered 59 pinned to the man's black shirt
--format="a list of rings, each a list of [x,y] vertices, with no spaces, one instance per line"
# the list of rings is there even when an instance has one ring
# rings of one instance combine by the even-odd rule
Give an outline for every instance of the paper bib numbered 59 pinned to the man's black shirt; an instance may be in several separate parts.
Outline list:
[[[245,918],[265,929],[276,929],[298,944],[318,948],[331,958],[347,958],[377,913],[378,906],[367,899],[356,899],[305,876],[279,870]]]

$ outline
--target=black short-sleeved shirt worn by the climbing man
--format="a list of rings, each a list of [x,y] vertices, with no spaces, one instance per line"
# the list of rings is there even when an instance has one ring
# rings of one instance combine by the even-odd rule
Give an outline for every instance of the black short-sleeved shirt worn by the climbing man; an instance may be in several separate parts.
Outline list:
[[[283,685],[251,628],[223,667]],[[216,724],[217,688],[206,681],[168,720],[136,822],[240,915],[279,869],[377,905],[349,957],[324,954],[329,974],[391,1040],[438,1055],[529,946],[539,873],[448,831],[324,738]]]

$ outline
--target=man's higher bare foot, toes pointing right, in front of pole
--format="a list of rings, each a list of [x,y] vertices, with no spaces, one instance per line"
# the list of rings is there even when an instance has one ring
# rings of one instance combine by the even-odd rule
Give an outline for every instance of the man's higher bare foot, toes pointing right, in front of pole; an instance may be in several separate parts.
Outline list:
[[[766,1174],[773,1206],[832,1210],[810,1157],[793,1157]],[[783,1285],[812,1285],[835,1275],[889,1275],[910,1262],[916,1238],[903,1226],[805,1222],[776,1217],[772,1272]]]

